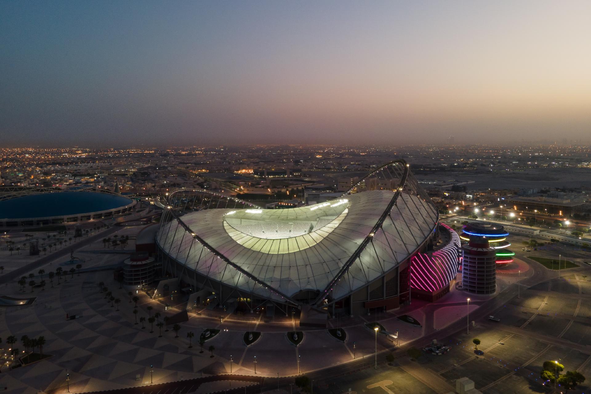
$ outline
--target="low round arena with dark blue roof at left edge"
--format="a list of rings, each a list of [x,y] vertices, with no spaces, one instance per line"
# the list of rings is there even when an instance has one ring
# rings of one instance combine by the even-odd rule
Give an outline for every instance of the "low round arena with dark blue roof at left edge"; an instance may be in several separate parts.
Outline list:
[[[0,228],[108,218],[129,211],[135,204],[135,200],[99,188],[2,188]]]

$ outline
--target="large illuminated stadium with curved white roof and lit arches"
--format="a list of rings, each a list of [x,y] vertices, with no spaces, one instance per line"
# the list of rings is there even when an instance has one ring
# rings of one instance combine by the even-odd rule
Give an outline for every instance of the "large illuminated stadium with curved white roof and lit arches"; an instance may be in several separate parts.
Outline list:
[[[373,177],[395,188],[368,190]],[[208,290],[225,311],[293,312],[304,325],[319,312],[368,314],[409,303],[414,292],[431,301],[447,292],[459,238],[438,219],[408,164],[396,160],[340,198],[298,208],[174,190],[156,241],[181,287]]]

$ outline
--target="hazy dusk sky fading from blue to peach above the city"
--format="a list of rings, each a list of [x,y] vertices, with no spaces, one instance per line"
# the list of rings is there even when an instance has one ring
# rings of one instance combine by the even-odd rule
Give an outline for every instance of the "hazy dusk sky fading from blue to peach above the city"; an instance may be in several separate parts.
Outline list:
[[[2,1],[2,146],[591,141],[591,1]]]

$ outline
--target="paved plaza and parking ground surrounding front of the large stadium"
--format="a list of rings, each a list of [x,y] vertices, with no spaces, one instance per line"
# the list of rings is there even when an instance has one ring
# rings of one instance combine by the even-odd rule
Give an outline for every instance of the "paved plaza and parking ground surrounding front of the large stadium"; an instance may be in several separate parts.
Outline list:
[[[131,238],[140,229],[141,226],[122,227],[116,234],[128,234]],[[76,250],[75,256],[86,259],[85,268],[99,269],[125,257],[120,250],[102,253],[106,251],[98,240]],[[346,343],[330,337],[325,329],[304,330],[290,321],[267,323],[258,314],[253,314],[251,322],[230,317],[223,323],[191,314],[189,321],[181,324],[178,338],[174,331],[164,330],[163,336],[158,337],[155,324],[152,333],[148,321],[144,329],[141,324],[135,324],[134,303],[129,302],[127,290],[119,289],[113,281],[111,269],[83,272],[80,276],[75,273],[73,277],[68,274],[59,286],[54,279],[53,288],[47,285],[45,290],[35,289],[33,293],[30,288],[20,292],[11,280],[2,285],[1,295],[33,295],[37,301],[26,307],[0,308],[0,337],[43,335],[46,338],[43,352],[52,357],[11,371],[3,370],[0,387],[8,387],[14,393],[62,393],[66,392],[67,373],[70,392],[124,389],[150,385],[150,382],[173,385],[178,380],[228,374],[230,370],[233,374],[252,376],[255,356],[256,375],[267,379],[258,389],[246,387],[248,392],[271,390],[273,386],[276,390],[278,383],[281,389],[290,392],[293,376],[301,372],[314,380],[314,392],[341,394],[352,388],[357,393],[381,394],[388,392],[385,387],[394,393],[447,393],[456,379],[467,376],[483,392],[525,393],[543,390],[539,382],[541,363],[558,358],[567,370],[579,369],[589,376],[591,282],[587,277],[591,279],[591,269],[581,264],[577,269],[565,270],[558,278],[556,272],[527,261],[524,256],[519,258],[531,269],[521,276],[499,275],[499,292],[495,298],[467,295],[452,288],[449,295],[436,303],[414,301],[411,306],[377,316],[356,316],[340,319],[338,323],[332,319],[331,327],[340,324],[345,328]],[[54,270],[63,260],[60,257],[51,261],[51,266],[47,263],[44,269]],[[37,268],[33,272],[36,271]],[[119,311],[105,299],[98,282],[105,282],[113,296],[121,299]],[[520,298],[517,298],[517,286],[521,286]],[[176,312],[170,308],[165,311],[163,304],[147,295],[139,296],[138,318],[147,319],[159,312],[161,321],[164,315]],[[476,323],[475,327],[470,325],[469,334],[466,334],[465,316],[467,297],[471,300],[470,321]],[[148,306],[153,309],[148,311]],[[66,314],[82,314],[82,317],[66,320]],[[397,319],[402,314],[420,321],[421,327]],[[486,319],[489,314],[501,321],[489,321]],[[378,369],[374,369],[376,336],[365,327],[367,322],[376,320],[388,331],[400,332],[400,347],[384,335],[377,335]],[[206,328],[222,331],[200,353],[197,337]],[[246,347],[242,335],[255,328],[262,332],[262,337]],[[305,331],[299,347],[285,338],[285,332],[294,329]],[[195,335],[193,348],[188,347],[189,331]],[[473,353],[474,337],[482,341],[480,348],[485,351],[482,357]],[[408,347],[420,348],[431,339],[452,345],[452,351],[444,356],[425,354],[416,361],[408,359]],[[215,347],[214,357],[210,357],[210,345]],[[20,341],[15,347],[22,348]],[[394,353],[395,361],[388,364],[385,356],[390,352]],[[149,387],[145,388],[146,394],[150,392]],[[205,387],[196,387],[193,392],[204,392]]]

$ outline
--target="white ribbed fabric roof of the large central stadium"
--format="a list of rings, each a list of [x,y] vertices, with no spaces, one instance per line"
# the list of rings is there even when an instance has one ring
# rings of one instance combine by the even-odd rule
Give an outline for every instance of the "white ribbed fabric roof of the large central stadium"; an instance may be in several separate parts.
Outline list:
[[[240,209],[227,217],[225,215],[232,209],[206,209],[180,217],[218,253],[272,289],[255,286],[253,279],[204,250],[174,219],[161,225],[157,242],[165,253],[189,269],[238,289],[281,301],[281,296],[271,290],[290,297],[301,290],[324,290],[372,231],[393,196],[392,191],[375,190],[348,195],[345,201],[336,201],[340,202],[337,206],[332,206],[336,204],[332,202],[291,209],[264,209],[261,213]],[[430,202],[404,192],[389,216],[348,272],[333,286],[334,298],[362,288],[394,269],[423,243],[437,221],[436,208]],[[326,217],[335,219],[316,231],[294,234],[290,238],[258,238],[232,227],[243,228],[241,226],[258,222],[313,223]]]

